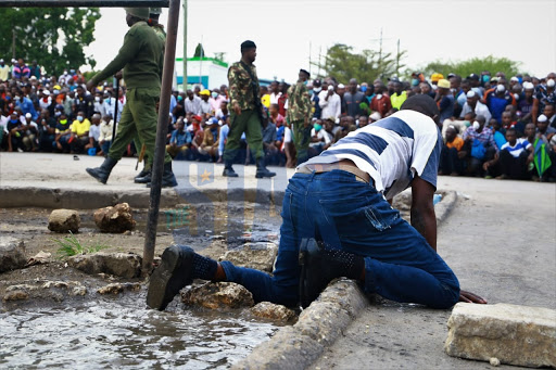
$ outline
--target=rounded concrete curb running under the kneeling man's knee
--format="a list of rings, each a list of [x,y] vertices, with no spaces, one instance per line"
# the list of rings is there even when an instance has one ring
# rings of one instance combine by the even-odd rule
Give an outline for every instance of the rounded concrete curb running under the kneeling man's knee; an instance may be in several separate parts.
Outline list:
[[[455,191],[443,193],[442,202],[434,206],[438,224],[446,219],[457,201]],[[368,304],[353,280],[332,282],[317,301],[301,312],[293,327],[280,329],[232,369],[305,369],[334,343]]]

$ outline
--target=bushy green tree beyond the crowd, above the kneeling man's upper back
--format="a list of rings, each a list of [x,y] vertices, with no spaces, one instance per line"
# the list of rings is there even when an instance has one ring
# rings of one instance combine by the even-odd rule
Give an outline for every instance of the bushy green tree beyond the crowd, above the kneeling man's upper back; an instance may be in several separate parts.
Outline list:
[[[384,79],[396,74],[396,68],[403,68],[401,61],[405,51],[395,56],[392,53],[365,49],[361,53],[343,43],[336,43],[328,49],[324,63],[312,63],[319,69],[319,77],[331,76],[346,84],[351,78],[359,82],[372,82],[377,78]]]

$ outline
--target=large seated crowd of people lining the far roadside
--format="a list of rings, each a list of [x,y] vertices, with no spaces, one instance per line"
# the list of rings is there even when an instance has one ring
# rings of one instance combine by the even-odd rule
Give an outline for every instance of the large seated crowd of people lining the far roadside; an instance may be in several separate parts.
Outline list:
[[[429,77],[429,78],[427,78]],[[396,112],[414,94],[429,94],[440,109],[444,141],[439,174],[500,179],[556,179],[556,74],[536,78],[489,72],[463,77],[414,73],[407,81],[372,82],[332,77],[307,80],[312,104],[308,152],[296,153],[288,115],[290,85],[261,87],[265,162],[295,167],[338,140]],[[104,82],[93,93],[79,71],[49,76],[33,62],[0,60],[0,141],[5,151],[105,155],[112,142],[114,110],[126,104],[125,87]],[[167,152],[174,160],[222,163],[230,128],[226,85],[174,91]],[[267,124],[266,124],[267,122]],[[254,162],[243,135],[235,163]],[[299,150],[299,146],[298,146]],[[126,155],[140,146],[130,144]]]

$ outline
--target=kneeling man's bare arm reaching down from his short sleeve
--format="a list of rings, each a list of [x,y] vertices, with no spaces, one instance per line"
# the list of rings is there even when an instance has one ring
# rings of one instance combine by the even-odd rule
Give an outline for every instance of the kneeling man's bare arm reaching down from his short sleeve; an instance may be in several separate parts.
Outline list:
[[[437,252],[437,215],[432,196],[434,187],[416,176],[412,181],[412,226]]]

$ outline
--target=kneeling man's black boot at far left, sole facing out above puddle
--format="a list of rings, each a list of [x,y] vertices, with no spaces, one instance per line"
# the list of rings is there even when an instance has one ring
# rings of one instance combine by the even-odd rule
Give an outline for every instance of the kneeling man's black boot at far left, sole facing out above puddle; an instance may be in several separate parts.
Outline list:
[[[147,305],[163,310],[181,288],[190,284],[194,252],[189,246],[173,245],[162,254],[161,265],[151,275]]]

